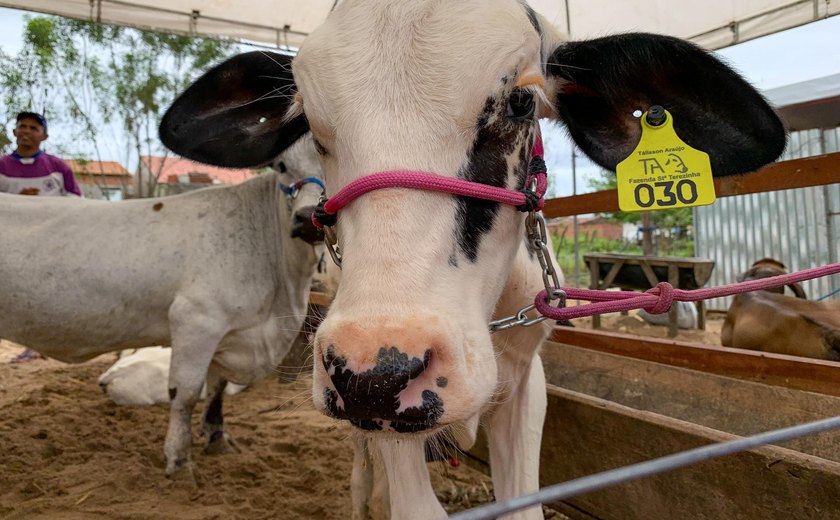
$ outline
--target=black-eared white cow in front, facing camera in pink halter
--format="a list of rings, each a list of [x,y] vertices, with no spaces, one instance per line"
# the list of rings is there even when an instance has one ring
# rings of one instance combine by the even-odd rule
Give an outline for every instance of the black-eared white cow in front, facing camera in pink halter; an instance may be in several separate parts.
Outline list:
[[[250,53],[209,72],[161,137],[242,166],[310,128],[329,195],[392,169],[522,188],[538,117],[613,169],[639,140],[634,112],[654,104],[717,175],[754,170],[785,144],[763,98],[705,51],[647,34],[564,42],[520,0],[345,0],[294,61]],[[338,214],[342,280],[316,335],[313,396],[366,430],[394,518],[444,516],[422,441],[452,425],[469,441],[479,417],[496,497],[537,489],[549,327],[491,337],[487,326],[542,287],[523,223],[509,206],[396,188]]]

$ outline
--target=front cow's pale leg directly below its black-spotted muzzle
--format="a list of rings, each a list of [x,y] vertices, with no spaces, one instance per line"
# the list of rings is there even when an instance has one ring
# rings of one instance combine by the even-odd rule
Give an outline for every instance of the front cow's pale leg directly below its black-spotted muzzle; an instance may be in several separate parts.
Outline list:
[[[375,437],[368,448],[378,450],[388,479],[391,518],[439,520],[446,511],[432,489],[426,466],[425,441],[420,437]]]

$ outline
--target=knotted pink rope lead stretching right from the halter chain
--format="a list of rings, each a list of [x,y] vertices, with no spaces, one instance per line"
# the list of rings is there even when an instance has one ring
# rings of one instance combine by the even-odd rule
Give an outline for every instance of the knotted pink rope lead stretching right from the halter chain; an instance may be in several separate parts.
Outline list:
[[[840,263],[829,264],[822,267],[813,267],[798,271],[796,273],[749,280],[719,287],[706,289],[695,289],[686,291],[674,289],[668,282],[660,282],[653,289],[643,293],[634,291],[599,291],[594,289],[564,288],[567,298],[573,300],[586,300],[598,303],[578,305],[576,307],[553,307],[548,303],[548,292],[543,289],[534,299],[534,306],[537,311],[552,320],[569,320],[572,318],[583,318],[596,314],[608,312],[630,311],[644,309],[651,314],[662,314],[671,308],[674,301],[693,302],[709,298],[722,298],[738,293],[770,289],[784,285],[812,280],[823,276],[830,276],[840,273]]]

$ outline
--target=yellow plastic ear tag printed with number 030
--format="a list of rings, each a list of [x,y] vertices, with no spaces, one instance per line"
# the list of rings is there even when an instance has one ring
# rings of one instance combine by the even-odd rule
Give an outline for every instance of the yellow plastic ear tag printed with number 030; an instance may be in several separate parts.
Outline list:
[[[642,138],[630,157],[616,167],[621,211],[713,203],[715,184],[709,155],[688,146],[677,136],[674,119],[668,111],[661,110],[657,115],[664,116],[659,118],[658,125],[648,121],[648,112],[642,115]]]

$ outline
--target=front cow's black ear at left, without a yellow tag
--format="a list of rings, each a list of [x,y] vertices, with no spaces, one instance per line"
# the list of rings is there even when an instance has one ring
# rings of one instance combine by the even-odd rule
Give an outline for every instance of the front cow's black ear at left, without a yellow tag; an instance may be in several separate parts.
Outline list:
[[[303,115],[286,118],[295,91],[291,56],[240,54],[210,69],[172,103],[160,140],[206,164],[265,164],[309,130]]]

